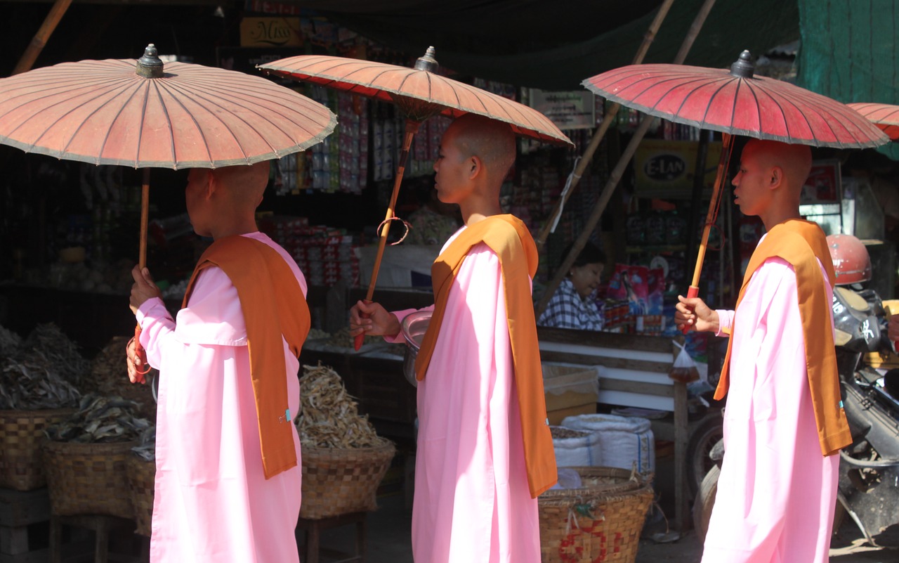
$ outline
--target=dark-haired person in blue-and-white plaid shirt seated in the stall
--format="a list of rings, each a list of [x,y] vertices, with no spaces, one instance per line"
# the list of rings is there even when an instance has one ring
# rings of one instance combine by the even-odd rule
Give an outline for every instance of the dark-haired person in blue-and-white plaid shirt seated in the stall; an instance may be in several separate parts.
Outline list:
[[[564,256],[571,251],[565,248]],[[600,285],[606,257],[591,243],[583,246],[571,270],[559,284],[547,308],[537,320],[539,326],[602,330],[602,312],[596,306],[596,289]]]

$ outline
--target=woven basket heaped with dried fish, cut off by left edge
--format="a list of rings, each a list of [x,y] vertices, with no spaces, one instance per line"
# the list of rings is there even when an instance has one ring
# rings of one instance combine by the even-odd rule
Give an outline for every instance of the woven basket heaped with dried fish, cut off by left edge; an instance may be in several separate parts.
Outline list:
[[[0,487],[29,491],[47,484],[43,431],[74,411],[84,364],[55,326],[38,326],[25,341],[0,326]]]

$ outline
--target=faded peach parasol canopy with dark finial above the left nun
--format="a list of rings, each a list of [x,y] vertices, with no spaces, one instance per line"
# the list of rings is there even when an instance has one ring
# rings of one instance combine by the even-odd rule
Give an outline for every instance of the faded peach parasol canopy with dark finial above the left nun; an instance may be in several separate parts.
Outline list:
[[[249,165],[315,145],[336,118],[262,76],[143,58],[0,78],[0,143],[95,165]]]

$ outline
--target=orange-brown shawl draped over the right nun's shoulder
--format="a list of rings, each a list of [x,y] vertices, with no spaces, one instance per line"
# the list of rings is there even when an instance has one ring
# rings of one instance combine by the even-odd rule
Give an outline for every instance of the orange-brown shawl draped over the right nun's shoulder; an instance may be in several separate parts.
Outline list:
[[[849,423],[842,409],[840,396],[840,376],[837,372],[836,354],[833,349],[832,322],[829,315],[831,302],[824,290],[824,280],[818,260],[827,273],[831,287],[836,276],[827,240],[816,223],[789,219],[771,228],[764,240],[752,253],[749,266],[743,276],[743,287],[736,299],[736,314],[740,311],[740,301],[749,281],[761,264],[768,258],[778,256],[793,265],[796,272],[799,315],[806,343],[806,371],[808,387],[812,393],[814,419],[818,427],[818,441],[823,455],[840,451],[852,442]],[[817,258],[818,260],[815,260]],[[734,321],[735,324],[735,321]],[[733,335],[727,344],[725,362],[721,368],[721,380],[715,391],[715,398],[724,398],[728,386],[731,347]]]

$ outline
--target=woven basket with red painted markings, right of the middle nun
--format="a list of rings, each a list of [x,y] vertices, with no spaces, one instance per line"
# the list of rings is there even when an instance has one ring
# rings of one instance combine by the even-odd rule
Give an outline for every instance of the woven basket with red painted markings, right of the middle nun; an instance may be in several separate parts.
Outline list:
[[[653,488],[636,472],[574,467],[583,487],[539,496],[543,563],[633,563]]]

